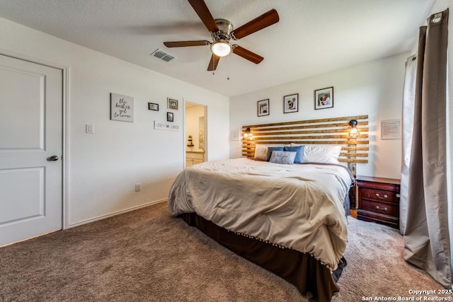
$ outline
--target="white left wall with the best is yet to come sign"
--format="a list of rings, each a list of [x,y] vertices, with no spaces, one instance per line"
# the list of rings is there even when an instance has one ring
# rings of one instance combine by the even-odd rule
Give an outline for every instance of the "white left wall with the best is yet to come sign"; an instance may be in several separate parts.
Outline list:
[[[226,96],[2,18],[0,28],[0,53],[69,66],[69,225],[166,199],[183,169],[185,99],[207,105],[209,159],[229,158]],[[110,120],[110,93],[134,97],[133,123]],[[167,97],[180,100],[179,110],[167,110]],[[159,103],[159,112],[148,102]],[[167,111],[179,132],[153,129]],[[95,134],[85,134],[85,124]]]

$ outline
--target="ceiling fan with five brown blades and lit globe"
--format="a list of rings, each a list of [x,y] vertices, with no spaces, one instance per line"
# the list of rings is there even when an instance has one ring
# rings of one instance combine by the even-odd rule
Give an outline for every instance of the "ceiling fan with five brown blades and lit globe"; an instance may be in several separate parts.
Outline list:
[[[274,23],[279,21],[278,13],[275,9],[263,13],[263,15],[254,18],[252,21],[242,25],[239,28],[233,29],[233,25],[230,21],[225,19],[214,19],[207,8],[205,1],[203,0],[188,0],[190,5],[195,10],[195,13],[200,17],[201,21],[205,24],[207,30],[210,31],[212,42],[207,40],[195,40],[195,41],[176,41],[176,42],[164,42],[166,47],[187,47],[187,46],[202,46],[211,45],[211,61],[207,66],[208,71],[214,71],[217,69],[220,57],[224,57],[230,52],[248,59],[255,64],[259,64],[263,61],[263,57],[260,55],[246,50],[239,45],[231,45],[230,40],[239,40],[242,37],[251,35],[252,33],[267,28]]]

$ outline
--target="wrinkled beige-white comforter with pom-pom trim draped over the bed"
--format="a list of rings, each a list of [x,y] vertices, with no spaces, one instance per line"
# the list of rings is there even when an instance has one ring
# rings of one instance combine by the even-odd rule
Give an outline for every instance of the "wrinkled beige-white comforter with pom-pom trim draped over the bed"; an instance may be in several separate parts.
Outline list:
[[[230,231],[308,252],[335,270],[346,248],[340,165],[280,165],[246,158],[186,168],[168,194],[173,216],[195,212]]]

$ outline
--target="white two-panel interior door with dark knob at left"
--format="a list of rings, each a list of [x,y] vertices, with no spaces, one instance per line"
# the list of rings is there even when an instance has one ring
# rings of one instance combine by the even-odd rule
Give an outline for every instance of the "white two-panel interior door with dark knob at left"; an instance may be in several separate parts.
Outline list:
[[[62,70],[0,55],[0,246],[62,229],[62,135]]]

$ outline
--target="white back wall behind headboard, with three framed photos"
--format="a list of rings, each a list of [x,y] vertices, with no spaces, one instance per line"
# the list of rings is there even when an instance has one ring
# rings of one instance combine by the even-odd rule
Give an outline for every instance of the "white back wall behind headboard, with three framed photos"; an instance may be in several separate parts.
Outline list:
[[[401,140],[380,138],[381,120],[401,120],[404,64],[409,53],[351,66],[308,79],[239,95],[230,100],[230,127],[323,117],[369,115],[369,163],[357,175],[400,178]],[[333,108],[314,110],[314,90],[333,86]],[[283,113],[283,96],[299,93],[299,112]],[[258,100],[270,99],[270,115],[257,117]],[[230,157],[241,156],[241,141],[230,141]]]

